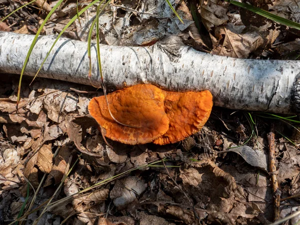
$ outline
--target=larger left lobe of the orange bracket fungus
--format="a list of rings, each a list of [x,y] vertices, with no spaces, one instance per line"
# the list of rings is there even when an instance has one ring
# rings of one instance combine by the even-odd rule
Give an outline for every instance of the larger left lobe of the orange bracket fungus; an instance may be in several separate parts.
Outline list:
[[[107,94],[108,111],[104,96],[93,97],[88,104],[90,115],[106,129],[105,136],[126,144],[153,141],[168,129],[164,112],[165,92],[150,84],[139,84]]]

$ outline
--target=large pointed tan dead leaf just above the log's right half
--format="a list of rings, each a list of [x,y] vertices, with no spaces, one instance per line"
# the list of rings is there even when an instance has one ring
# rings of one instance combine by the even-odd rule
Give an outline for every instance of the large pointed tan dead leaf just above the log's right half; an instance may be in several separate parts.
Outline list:
[[[210,53],[235,58],[247,58],[251,52],[264,43],[258,32],[236,33],[230,24],[218,26],[214,35],[222,44],[214,46]]]

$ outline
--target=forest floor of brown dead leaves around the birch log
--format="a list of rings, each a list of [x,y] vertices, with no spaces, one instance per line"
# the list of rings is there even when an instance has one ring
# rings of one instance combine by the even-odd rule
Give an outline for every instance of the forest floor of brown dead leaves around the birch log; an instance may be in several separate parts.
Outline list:
[[[0,19],[26,2],[0,0]],[[89,2],[78,0],[79,10]],[[248,2],[300,22],[299,1]],[[35,34],[57,0],[34,3],[0,30]],[[151,45],[172,34],[230,57],[300,55],[300,30],[228,2],[171,3],[184,24],[165,0],[111,1],[99,19],[101,43]],[[64,35],[86,41],[95,8]],[[41,34],[58,34],[74,15],[76,0],[63,1]],[[183,141],[132,146],[107,139],[112,149],[87,117],[101,90],[39,77],[29,85],[25,76],[16,111],[18,79],[0,78],[0,224],[270,224],[300,209],[299,116],[213,107],[203,128]]]

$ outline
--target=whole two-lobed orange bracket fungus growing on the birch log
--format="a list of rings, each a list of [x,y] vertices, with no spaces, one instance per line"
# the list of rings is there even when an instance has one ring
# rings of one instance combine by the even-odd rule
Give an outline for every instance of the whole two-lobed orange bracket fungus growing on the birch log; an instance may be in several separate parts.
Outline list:
[[[125,144],[175,143],[196,133],[207,121],[212,95],[200,92],[171,92],[151,84],[137,84],[107,94],[110,115],[104,96],[93,97],[88,104],[90,115],[105,128],[105,136]]]

